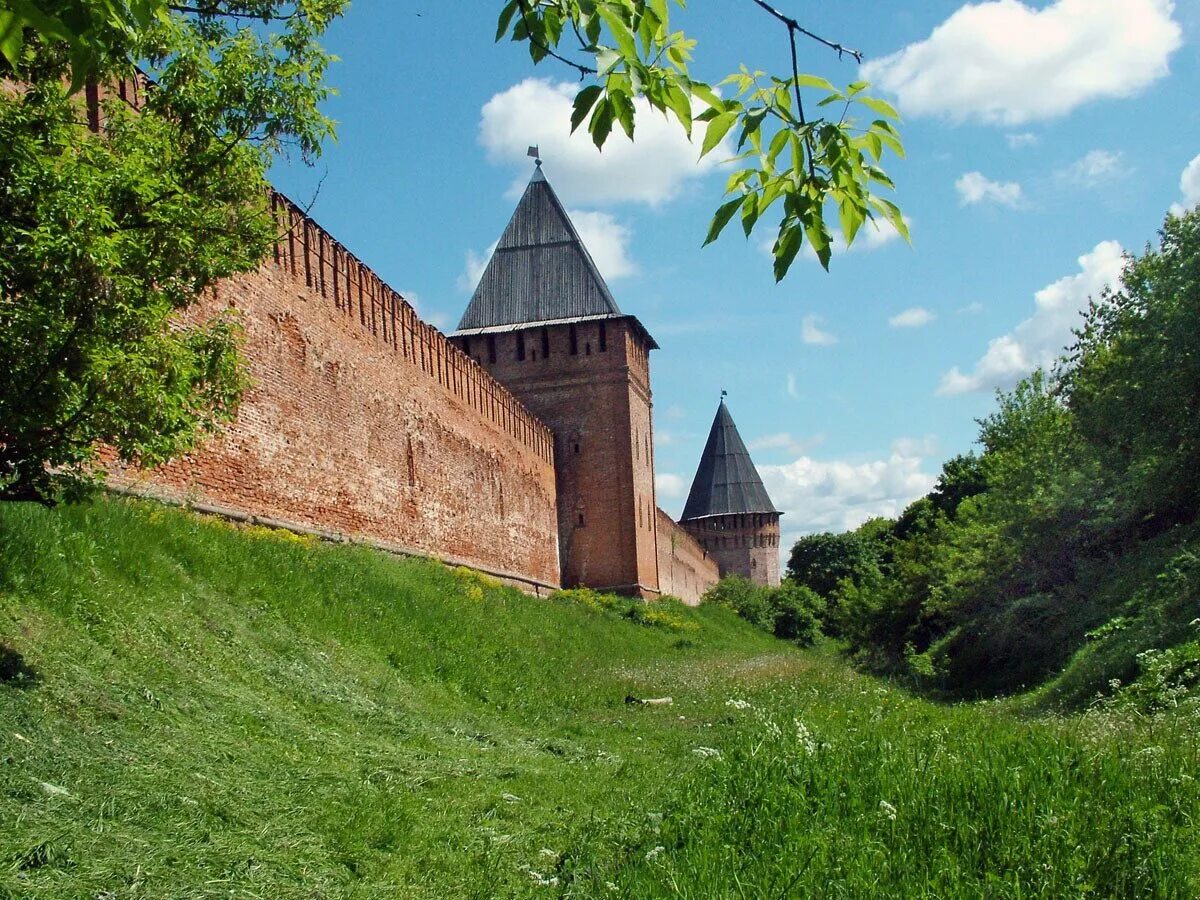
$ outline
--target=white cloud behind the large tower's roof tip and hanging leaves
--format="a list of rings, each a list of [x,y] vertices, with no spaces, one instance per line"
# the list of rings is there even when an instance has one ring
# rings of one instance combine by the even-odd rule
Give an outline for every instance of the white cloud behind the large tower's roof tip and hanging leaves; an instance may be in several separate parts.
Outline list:
[[[479,143],[491,162],[521,167],[522,175],[512,185],[515,192],[524,190],[529,178],[529,144],[540,148],[554,188],[574,203],[658,205],[728,156],[718,148],[697,161],[702,134],[697,133],[697,143],[689,142],[678,122],[668,121],[641,100],[635,101],[635,140],[617,127],[601,152],[592,143],[586,122],[571,133],[571,102],[577,91],[576,84],[527,78],[484,104]]]

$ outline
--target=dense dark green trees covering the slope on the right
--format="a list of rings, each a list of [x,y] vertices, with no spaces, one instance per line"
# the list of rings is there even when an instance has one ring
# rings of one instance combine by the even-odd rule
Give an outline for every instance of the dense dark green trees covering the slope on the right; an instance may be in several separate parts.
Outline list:
[[[1174,704],[1200,678],[1200,211],[1075,335],[899,518],[794,546],[790,577],[864,664],[1074,703]]]

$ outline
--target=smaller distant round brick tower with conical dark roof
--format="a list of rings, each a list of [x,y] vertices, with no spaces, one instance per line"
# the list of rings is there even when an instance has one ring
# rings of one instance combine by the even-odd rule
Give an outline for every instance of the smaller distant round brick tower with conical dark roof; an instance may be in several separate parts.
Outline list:
[[[782,514],[767,496],[724,396],[679,524],[716,560],[722,577],[775,587]]]

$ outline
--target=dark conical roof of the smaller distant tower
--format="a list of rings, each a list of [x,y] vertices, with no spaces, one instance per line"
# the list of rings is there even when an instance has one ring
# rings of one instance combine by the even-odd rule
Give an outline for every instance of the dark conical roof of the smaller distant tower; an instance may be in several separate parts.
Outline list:
[[[758,470],[750,461],[750,451],[738,434],[725,401],[716,408],[708,443],[700,457],[691,493],[683,508],[680,522],[704,516],[725,516],[739,512],[779,512],[762,486]]]

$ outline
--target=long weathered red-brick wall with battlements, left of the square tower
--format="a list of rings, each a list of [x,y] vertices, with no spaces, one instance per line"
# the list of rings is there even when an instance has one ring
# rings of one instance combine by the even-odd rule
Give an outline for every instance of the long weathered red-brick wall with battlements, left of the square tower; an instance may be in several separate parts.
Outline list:
[[[124,487],[559,583],[550,431],[282,198],[275,258],[196,314],[242,313],[236,421]]]

